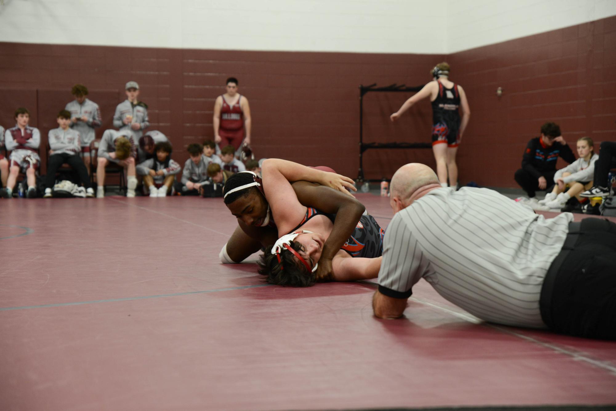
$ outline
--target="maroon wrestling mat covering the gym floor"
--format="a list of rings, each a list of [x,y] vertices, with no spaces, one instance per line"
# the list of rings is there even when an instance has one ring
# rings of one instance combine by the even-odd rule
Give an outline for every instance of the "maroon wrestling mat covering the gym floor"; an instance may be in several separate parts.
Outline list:
[[[357,197],[387,225],[387,198]],[[0,410],[616,404],[616,343],[485,324],[426,282],[378,320],[373,283],[282,288],[219,264],[236,224],[219,198],[0,210]]]

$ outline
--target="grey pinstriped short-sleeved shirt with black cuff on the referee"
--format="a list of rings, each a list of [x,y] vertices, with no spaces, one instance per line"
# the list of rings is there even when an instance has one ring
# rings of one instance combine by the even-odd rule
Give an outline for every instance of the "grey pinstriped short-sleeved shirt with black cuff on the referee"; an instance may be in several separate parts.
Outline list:
[[[434,189],[389,223],[379,291],[408,298],[423,277],[480,319],[545,327],[541,284],[572,220],[570,213],[545,219],[493,190]]]

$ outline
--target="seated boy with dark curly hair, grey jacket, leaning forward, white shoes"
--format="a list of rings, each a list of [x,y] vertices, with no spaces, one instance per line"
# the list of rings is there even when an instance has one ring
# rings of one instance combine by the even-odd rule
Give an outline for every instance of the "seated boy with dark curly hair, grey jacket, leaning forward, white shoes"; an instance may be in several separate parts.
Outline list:
[[[167,197],[173,188],[180,165],[171,158],[171,143],[163,141],[155,146],[156,157],[145,160],[137,166],[137,173],[144,176],[144,184],[150,190],[150,197]]]

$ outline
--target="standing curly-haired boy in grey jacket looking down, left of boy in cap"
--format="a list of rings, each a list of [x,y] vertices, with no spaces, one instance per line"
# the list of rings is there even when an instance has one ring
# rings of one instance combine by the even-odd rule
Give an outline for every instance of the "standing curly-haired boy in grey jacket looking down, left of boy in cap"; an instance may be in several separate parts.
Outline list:
[[[79,133],[81,139],[81,153],[85,164],[90,163],[90,143],[96,138],[95,128],[100,127],[103,120],[100,116],[99,105],[88,100],[87,87],[75,84],[71,89],[75,100],[69,102],[64,109],[71,113],[70,127]],[[89,173],[90,170],[86,168]]]

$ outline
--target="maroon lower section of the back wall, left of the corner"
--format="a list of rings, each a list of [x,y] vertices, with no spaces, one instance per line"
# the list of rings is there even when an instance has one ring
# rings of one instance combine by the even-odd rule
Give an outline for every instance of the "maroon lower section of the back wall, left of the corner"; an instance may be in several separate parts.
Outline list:
[[[248,52],[138,47],[55,46],[0,43],[0,124],[14,126],[16,107],[32,112],[31,124],[46,140],[55,115],[83,83],[102,107],[100,137],[135,80],[149,105],[150,129],[171,137],[174,158],[188,158],[185,147],[213,137],[214,100],[225,79],[236,76],[253,116],[257,157],[279,157],[307,165],[329,165],[357,176],[359,167],[359,85],[417,85],[443,55]],[[428,102],[418,116],[391,124],[387,119],[411,94],[365,97],[365,141],[422,141],[429,128]],[[429,150],[379,150],[365,155],[367,177],[391,176],[398,165],[426,161]]]

